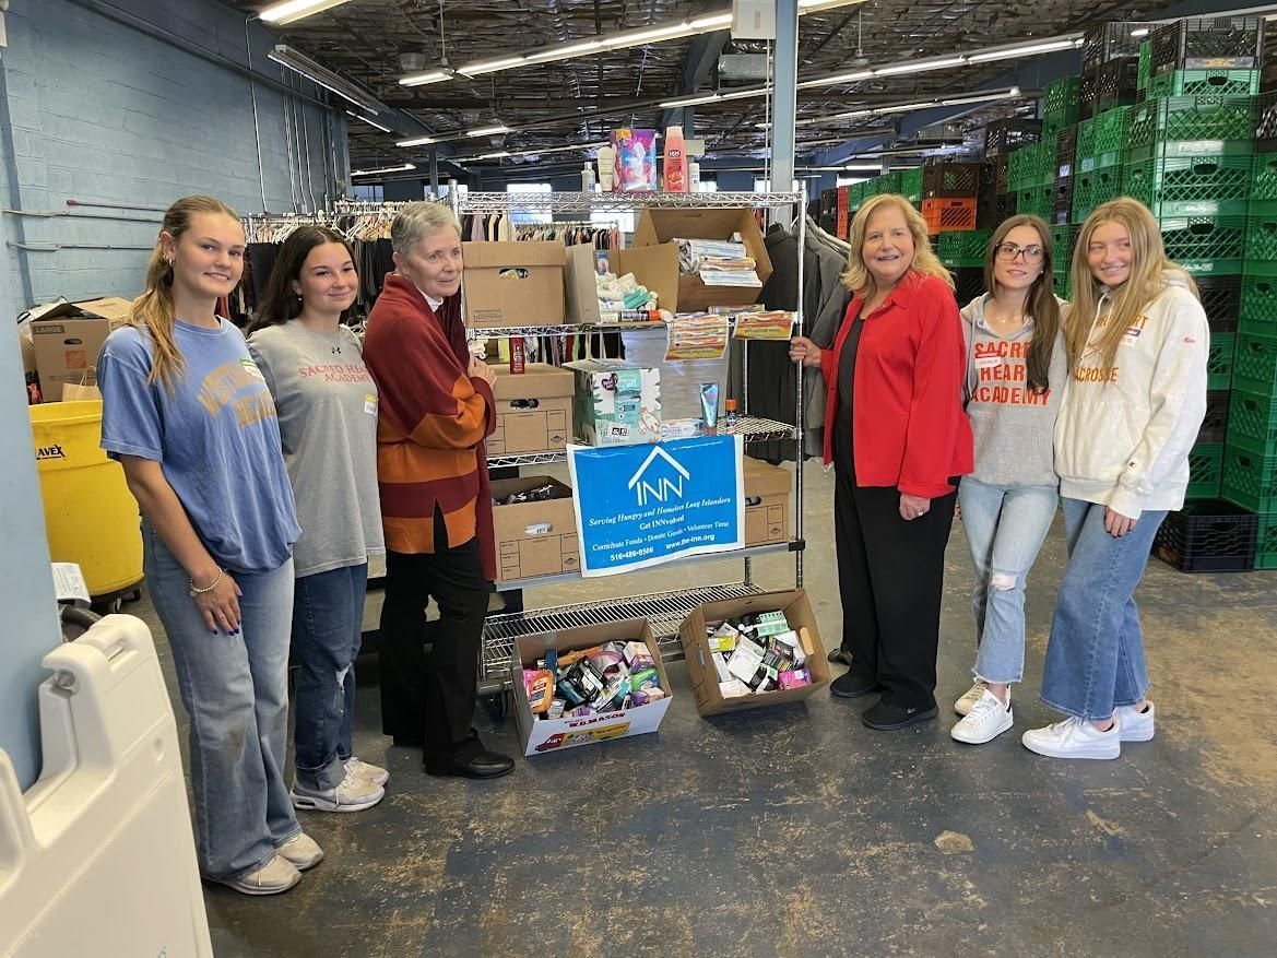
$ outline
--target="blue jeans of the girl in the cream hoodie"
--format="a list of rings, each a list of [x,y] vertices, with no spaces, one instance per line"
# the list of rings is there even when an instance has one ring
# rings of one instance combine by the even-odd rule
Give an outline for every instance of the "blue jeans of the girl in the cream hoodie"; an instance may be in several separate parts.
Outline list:
[[[1042,701],[1052,709],[1102,722],[1148,692],[1134,594],[1163,519],[1165,511],[1144,512],[1119,539],[1105,531],[1103,506],[1064,501],[1069,565],[1042,676]]]

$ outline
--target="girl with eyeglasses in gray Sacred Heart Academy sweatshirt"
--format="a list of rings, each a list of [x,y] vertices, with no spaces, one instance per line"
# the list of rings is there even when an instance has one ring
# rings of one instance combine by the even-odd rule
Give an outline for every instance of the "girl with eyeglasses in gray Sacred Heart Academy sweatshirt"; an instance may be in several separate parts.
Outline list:
[[[979,649],[950,734],[969,745],[1013,724],[1010,687],[1024,677],[1024,585],[1059,499],[1051,437],[1068,363],[1051,255],[1042,220],[1006,220],[985,258],[988,293],[962,310],[976,470],[962,478],[958,501],[976,568]]]

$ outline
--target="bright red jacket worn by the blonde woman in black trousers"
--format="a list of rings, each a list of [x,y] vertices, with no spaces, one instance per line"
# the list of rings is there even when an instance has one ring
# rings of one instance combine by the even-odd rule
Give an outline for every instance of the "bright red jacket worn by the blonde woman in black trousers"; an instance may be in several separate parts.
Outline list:
[[[834,459],[839,356],[859,312],[856,298],[834,347],[821,353],[829,391],[825,462]],[[953,291],[940,278],[908,273],[865,318],[861,331],[852,410],[859,485],[894,485],[933,499],[953,492],[950,478],[974,469],[971,422],[962,405],[964,369],[962,319]]]

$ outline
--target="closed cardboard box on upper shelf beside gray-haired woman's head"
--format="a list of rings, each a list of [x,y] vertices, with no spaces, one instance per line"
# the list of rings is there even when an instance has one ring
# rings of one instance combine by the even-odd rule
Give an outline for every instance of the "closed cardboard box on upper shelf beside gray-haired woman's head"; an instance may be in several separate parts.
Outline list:
[[[467,326],[563,322],[562,243],[462,243],[461,248]]]

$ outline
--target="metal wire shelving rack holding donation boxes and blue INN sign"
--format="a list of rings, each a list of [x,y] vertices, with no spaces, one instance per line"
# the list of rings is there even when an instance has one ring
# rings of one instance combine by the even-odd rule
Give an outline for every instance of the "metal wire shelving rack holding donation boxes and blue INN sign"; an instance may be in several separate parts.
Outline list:
[[[793,193],[458,193],[451,192],[453,211],[458,216],[467,213],[619,213],[642,209],[766,209],[775,217],[785,208],[793,209],[793,222],[798,231],[798,249],[806,243],[806,190]],[[798,304],[796,331],[803,331],[802,289],[803,257],[798,257]],[[554,326],[526,326],[502,328],[476,328],[475,335],[510,338],[518,336],[563,336],[587,330],[632,328],[621,324],[607,327],[559,323]],[[736,341],[732,341],[733,344]],[[515,653],[515,640],[518,636],[536,632],[558,631],[586,625],[621,622],[627,618],[646,618],[653,634],[661,646],[665,659],[681,658],[678,627],[683,618],[699,605],[718,599],[738,598],[764,591],[753,581],[751,557],[764,553],[792,552],[794,554],[794,582],[803,584],[803,387],[802,376],[797,377],[794,395],[794,423],[779,423],[748,414],[748,341],[742,345],[742,416],[736,432],[743,436],[746,445],[764,441],[785,439],[794,442],[794,526],[788,543],[739,549],[736,552],[697,556],[679,559],[681,565],[699,561],[739,558],[743,561],[743,576],[736,582],[696,585],[663,593],[651,593],[635,598],[582,602],[568,605],[529,609],[524,612],[499,613],[489,616],[484,626],[483,653],[479,663],[480,695],[498,695],[510,686],[510,669]],[[535,466],[567,460],[566,452],[517,453],[492,456],[489,466]],[[526,589],[554,585],[564,581],[578,581],[580,574],[527,579],[518,582],[504,582],[501,589]]]

